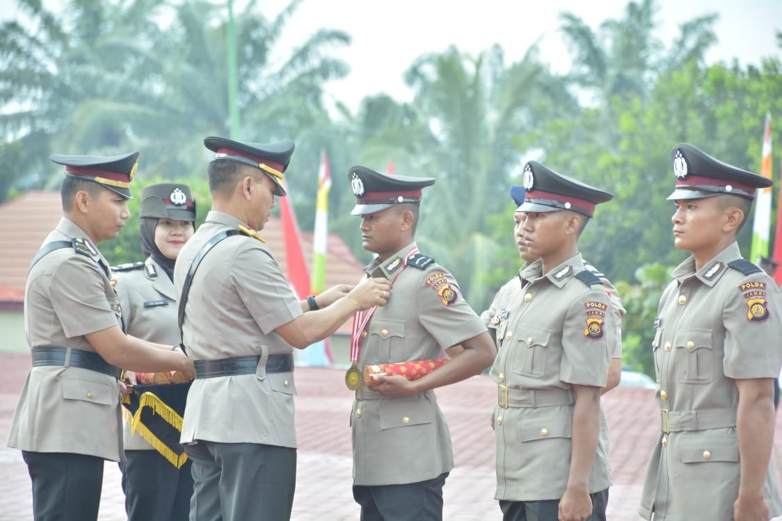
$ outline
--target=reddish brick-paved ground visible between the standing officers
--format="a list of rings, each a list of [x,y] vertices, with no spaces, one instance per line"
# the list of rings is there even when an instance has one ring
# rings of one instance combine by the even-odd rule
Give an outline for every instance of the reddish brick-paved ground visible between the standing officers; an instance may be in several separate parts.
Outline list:
[[[27,467],[19,451],[5,447],[16,398],[30,367],[27,353],[0,353],[0,521],[32,519]],[[350,492],[350,394],[338,369],[296,369],[299,466],[293,519],[358,519]],[[444,517],[501,519],[494,494],[494,447],[490,427],[496,387],[485,376],[437,392],[450,424],[457,468],[445,486]],[[608,519],[640,519],[636,508],[646,459],[655,440],[652,391],[618,387],[604,397],[612,440],[613,481]],[[55,428],[56,426],[52,426]],[[782,415],[777,416],[777,471],[782,471]],[[106,463],[101,521],[124,520],[117,465]],[[780,518],[782,519],[782,518]]]

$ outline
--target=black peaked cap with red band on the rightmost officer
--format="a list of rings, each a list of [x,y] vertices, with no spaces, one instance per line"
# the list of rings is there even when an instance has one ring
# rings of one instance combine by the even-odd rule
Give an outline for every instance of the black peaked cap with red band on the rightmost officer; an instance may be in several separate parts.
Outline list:
[[[669,200],[700,199],[725,194],[752,200],[755,198],[755,188],[766,188],[773,184],[767,177],[714,159],[688,143],[673,147],[671,160],[676,176],[676,190],[668,196]]]

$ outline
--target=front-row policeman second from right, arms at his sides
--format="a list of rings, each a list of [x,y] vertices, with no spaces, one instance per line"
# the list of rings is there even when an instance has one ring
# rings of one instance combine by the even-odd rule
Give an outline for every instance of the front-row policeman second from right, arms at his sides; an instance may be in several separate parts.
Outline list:
[[[537,258],[490,309],[497,339],[494,433],[504,519],[605,519],[611,484],[598,444],[601,388],[618,341],[618,312],[585,269],[578,237],[611,194],[538,162],[524,170],[517,236]]]

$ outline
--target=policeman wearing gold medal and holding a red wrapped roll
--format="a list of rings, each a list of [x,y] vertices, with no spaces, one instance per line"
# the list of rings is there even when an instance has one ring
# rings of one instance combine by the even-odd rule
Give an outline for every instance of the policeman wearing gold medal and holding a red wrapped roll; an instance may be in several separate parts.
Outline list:
[[[454,277],[418,253],[421,189],[435,180],[364,166],[353,166],[348,177],[364,249],[377,255],[367,276],[393,286],[386,307],[357,316],[364,322],[353,327],[357,366],[439,359],[443,349],[453,355],[418,380],[378,376],[373,387],[361,380],[351,414],[353,498],[362,521],[443,519],[443,484],[454,457],[433,389],[486,369],[494,346]]]

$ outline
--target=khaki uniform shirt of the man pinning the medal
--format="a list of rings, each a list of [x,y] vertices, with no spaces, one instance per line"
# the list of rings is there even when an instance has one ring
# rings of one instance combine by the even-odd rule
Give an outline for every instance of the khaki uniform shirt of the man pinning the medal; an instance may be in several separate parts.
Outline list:
[[[203,244],[240,224],[246,226],[228,214],[209,212],[177,258],[178,298]],[[292,346],[274,330],[300,315],[296,295],[263,242],[239,234],[206,254],[185,307],[183,338],[188,357],[218,360],[260,355],[261,361],[255,374],[193,381],[181,443],[204,440],[296,448],[293,373],[267,374],[264,368],[267,355],[292,353]]]

